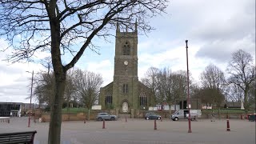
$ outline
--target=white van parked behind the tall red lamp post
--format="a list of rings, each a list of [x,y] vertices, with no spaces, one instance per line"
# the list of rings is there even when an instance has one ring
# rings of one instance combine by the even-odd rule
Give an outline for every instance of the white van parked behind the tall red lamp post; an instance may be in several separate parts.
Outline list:
[[[196,118],[201,118],[201,110],[190,110],[190,118],[196,120]],[[174,114],[170,115],[170,119],[173,121],[178,121],[178,119],[186,119],[189,117],[189,110],[177,110]]]

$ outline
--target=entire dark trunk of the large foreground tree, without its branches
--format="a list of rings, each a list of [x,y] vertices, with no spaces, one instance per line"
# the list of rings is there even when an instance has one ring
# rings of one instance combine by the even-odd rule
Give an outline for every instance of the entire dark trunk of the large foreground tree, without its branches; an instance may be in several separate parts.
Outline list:
[[[48,135],[48,144],[60,144],[62,129],[62,100],[64,97],[66,85],[66,70],[62,66],[60,52],[60,21],[56,16],[57,1],[50,1],[48,14],[50,18],[50,36],[51,36],[51,61],[54,67],[54,95],[50,102],[50,126]]]

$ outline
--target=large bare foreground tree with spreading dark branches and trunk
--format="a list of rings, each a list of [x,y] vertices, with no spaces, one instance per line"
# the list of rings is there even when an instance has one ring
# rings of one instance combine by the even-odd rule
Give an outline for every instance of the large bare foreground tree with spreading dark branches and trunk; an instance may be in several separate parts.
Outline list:
[[[59,144],[62,125],[62,100],[66,71],[78,62],[86,48],[96,50],[94,37],[106,38],[119,22],[121,26],[147,32],[148,19],[166,9],[167,0],[66,1],[2,0],[0,1],[0,35],[6,36],[13,53],[11,62],[32,61],[35,53],[50,52],[54,68],[55,91],[51,102],[49,144]],[[80,45],[79,43],[82,44]],[[74,46],[75,45],[75,46]],[[6,49],[6,48],[4,48]],[[62,55],[74,58],[64,65]]]

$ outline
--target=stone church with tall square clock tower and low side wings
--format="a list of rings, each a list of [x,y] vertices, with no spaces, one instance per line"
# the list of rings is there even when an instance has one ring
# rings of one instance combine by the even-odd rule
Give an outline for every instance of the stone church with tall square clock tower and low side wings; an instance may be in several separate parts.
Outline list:
[[[117,24],[115,37],[114,80],[100,89],[99,104],[102,110],[148,110],[155,106],[150,88],[138,81],[138,30],[137,22],[131,32],[121,32]]]

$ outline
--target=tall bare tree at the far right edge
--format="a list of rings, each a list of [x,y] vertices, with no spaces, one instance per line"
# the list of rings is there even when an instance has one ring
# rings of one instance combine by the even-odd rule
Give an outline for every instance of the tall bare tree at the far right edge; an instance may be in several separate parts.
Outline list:
[[[250,86],[255,81],[255,66],[252,56],[243,50],[234,52],[226,71],[230,74],[228,82],[242,89],[247,113],[250,107],[248,94]]]

